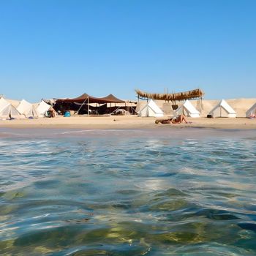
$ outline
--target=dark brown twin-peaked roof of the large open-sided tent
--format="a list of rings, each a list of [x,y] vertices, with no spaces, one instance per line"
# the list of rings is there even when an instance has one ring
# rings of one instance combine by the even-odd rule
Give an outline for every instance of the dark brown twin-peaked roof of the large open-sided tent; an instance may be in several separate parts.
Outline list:
[[[99,103],[99,104],[124,102],[124,100],[116,98],[115,96],[113,96],[113,94],[109,94],[108,96],[102,97],[102,98],[92,97],[89,94],[82,94],[76,98],[57,99],[56,102],[78,102],[78,103],[86,102],[87,103],[88,99],[89,99],[89,103]]]

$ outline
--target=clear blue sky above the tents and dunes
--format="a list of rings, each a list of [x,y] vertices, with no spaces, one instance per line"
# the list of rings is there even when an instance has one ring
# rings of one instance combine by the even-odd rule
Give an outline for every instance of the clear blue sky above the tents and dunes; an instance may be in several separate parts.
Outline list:
[[[255,0],[1,0],[0,94],[256,97]]]

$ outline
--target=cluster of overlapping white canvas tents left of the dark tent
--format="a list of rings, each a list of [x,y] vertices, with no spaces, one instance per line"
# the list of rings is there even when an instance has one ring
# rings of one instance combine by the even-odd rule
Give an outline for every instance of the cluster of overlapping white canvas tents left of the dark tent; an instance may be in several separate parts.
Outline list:
[[[48,111],[50,105],[45,103],[43,100],[34,107],[31,103],[25,99],[21,100],[17,108],[15,108],[7,99],[0,98],[0,118],[1,119],[23,119],[23,118],[38,118],[44,117],[46,111]]]

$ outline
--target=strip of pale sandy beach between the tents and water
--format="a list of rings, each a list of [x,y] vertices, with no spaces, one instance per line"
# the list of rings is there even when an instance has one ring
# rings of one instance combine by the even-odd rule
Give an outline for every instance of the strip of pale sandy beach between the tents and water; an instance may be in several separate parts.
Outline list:
[[[167,117],[166,117],[167,118]],[[0,121],[3,128],[83,128],[83,129],[162,129],[205,127],[215,129],[256,129],[256,119],[249,118],[187,118],[191,124],[155,124],[157,118],[138,116],[71,116]]]

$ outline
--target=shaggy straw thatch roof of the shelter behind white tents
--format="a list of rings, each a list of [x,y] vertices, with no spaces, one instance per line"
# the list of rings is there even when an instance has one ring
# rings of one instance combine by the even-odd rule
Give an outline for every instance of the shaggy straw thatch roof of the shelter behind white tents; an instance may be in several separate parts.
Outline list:
[[[150,94],[145,91],[135,90],[138,99],[157,99],[157,100],[165,100],[165,101],[182,101],[186,99],[200,99],[203,97],[204,93],[200,89],[195,89],[191,91],[178,92],[175,94]]]

